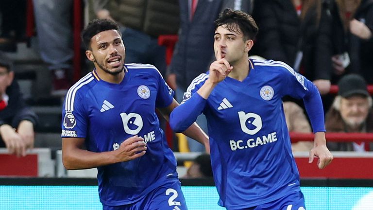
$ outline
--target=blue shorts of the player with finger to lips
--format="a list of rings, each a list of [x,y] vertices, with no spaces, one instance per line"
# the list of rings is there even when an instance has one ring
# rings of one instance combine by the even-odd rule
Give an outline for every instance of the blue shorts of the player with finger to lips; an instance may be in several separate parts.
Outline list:
[[[299,191],[246,210],[305,210],[305,197]]]

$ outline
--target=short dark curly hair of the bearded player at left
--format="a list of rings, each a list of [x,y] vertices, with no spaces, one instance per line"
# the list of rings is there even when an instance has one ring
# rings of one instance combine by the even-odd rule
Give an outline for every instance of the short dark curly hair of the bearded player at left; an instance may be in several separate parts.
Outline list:
[[[94,19],[88,23],[82,32],[82,41],[85,45],[85,49],[91,49],[91,38],[94,35],[99,34],[103,31],[117,30],[119,35],[119,26],[112,20],[109,19]]]

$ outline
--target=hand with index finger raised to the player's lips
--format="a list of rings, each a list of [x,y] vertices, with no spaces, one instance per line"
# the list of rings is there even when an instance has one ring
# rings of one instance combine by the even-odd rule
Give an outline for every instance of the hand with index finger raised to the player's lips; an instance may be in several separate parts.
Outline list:
[[[214,84],[223,81],[233,69],[229,62],[222,57],[221,46],[219,46],[216,58],[217,60],[210,65],[209,79]]]

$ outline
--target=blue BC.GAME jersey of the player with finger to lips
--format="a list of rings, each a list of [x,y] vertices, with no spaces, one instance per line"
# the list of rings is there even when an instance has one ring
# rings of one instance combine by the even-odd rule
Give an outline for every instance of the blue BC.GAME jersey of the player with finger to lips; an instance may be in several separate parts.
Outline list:
[[[282,97],[303,98],[313,84],[282,62],[250,59],[249,64],[247,78],[240,82],[226,77],[203,108],[219,204],[229,210],[300,191]],[[184,102],[201,88],[208,74],[193,80]]]

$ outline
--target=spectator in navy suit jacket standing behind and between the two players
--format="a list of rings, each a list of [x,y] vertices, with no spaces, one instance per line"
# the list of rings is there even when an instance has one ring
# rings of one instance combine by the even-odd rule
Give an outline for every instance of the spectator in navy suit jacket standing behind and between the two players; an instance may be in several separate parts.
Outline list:
[[[179,0],[180,29],[172,61],[168,69],[167,82],[175,90],[180,103],[192,80],[206,72],[215,59],[213,44],[214,20],[226,7],[250,13],[251,0]],[[204,115],[196,123],[207,133]],[[203,152],[204,146],[187,138],[191,152]]]

